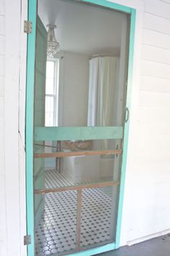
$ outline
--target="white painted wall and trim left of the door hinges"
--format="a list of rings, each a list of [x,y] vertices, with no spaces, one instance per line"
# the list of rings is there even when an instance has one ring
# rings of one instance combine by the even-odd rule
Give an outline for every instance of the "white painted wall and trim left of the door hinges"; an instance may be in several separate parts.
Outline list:
[[[21,17],[22,12],[22,17]],[[24,105],[26,0],[0,0],[0,255],[26,255]]]

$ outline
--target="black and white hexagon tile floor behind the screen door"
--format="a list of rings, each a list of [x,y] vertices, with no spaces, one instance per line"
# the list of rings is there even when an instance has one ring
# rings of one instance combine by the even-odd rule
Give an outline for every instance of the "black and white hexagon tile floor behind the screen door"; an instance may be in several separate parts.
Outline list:
[[[73,185],[58,171],[45,174],[45,187]],[[110,239],[112,196],[101,188],[83,189],[81,248],[107,244]],[[76,252],[77,191],[45,195],[45,210],[35,230],[35,255],[67,255]]]

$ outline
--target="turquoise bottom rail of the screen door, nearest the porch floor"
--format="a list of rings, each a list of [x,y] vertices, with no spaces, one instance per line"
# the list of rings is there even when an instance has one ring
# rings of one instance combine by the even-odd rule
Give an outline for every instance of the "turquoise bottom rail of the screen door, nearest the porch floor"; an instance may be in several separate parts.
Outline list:
[[[106,245],[92,248],[92,249],[86,249],[84,251],[76,252],[68,256],[91,256],[91,255],[97,255],[98,253],[102,253],[102,252],[108,252],[112,249],[115,249],[115,243],[106,244]]]

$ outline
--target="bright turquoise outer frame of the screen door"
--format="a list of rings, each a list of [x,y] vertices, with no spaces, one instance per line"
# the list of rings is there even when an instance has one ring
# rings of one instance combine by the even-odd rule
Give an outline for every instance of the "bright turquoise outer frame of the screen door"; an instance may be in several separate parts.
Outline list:
[[[130,14],[130,42],[128,56],[128,88],[126,98],[126,108],[130,111],[131,88],[133,82],[133,55],[135,42],[135,15],[133,8],[120,4],[115,4],[106,0],[79,0],[79,2],[96,4],[100,7],[109,7],[115,11]],[[27,245],[27,256],[34,256],[34,185],[33,185],[33,143],[34,143],[34,85],[35,85],[35,40],[36,40],[36,23],[37,23],[37,0],[28,0],[28,20],[32,22],[32,33],[27,36],[27,85],[26,85],[26,201],[27,201],[27,235],[31,236],[31,243]],[[129,119],[125,122],[123,131],[123,152],[122,168],[120,179],[120,196],[117,213],[117,232],[114,243],[106,244],[73,255],[96,255],[101,252],[107,252],[120,247],[120,231],[122,223],[122,206],[125,189],[125,171],[128,153],[128,133]],[[71,256],[71,255],[70,255]]]

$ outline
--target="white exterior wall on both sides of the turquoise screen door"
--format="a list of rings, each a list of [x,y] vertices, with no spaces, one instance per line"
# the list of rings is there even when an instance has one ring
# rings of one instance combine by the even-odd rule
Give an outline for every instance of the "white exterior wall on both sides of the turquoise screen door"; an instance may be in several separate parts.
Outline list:
[[[112,1],[137,9],[123,245],[170,231],[170,1]],[[26,255],[26,18],[26,0],[0,0],[0,255],[6,256]]]

